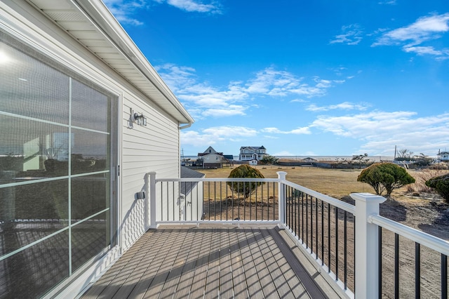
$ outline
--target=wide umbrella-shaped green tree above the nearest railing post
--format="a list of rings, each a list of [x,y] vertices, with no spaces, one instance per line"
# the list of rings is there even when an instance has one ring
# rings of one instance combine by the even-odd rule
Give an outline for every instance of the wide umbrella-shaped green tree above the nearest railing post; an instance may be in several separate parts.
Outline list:
[[[415,182],[415,178],[396,164],[376,163],[363,169],[357,181],[369,184],[377,195],[382,195],[386,190],[389,197],[393,190]]]

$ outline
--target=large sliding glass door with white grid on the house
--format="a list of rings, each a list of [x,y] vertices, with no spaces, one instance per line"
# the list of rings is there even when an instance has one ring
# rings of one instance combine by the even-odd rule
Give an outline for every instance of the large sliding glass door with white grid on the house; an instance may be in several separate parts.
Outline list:
[[[0,32],[0,298],[114,246],[117,97]]]

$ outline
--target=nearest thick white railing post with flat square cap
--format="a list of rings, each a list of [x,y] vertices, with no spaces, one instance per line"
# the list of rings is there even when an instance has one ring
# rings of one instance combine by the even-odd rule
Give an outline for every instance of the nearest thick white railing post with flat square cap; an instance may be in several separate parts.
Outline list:
[[[370,193],[351,193],[356,201],[356,298],[379,298],[379,230],[368,222],[369,215],[379,215],[379,205],[386,199]]]

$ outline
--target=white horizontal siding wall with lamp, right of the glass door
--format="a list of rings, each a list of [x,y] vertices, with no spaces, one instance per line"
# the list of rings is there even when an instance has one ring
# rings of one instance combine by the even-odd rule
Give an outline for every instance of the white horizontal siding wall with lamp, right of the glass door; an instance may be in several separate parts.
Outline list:
[[[147,117],[147,126],[128,126],[130,108]],[[180,173],[178,124],[149,102],[131,94],[123,96],[122,118],[122,208],[123,248],[128,248],[145,232],[145,205],[135,200],[144,187],[145,173],[156,178],[177,178]]]

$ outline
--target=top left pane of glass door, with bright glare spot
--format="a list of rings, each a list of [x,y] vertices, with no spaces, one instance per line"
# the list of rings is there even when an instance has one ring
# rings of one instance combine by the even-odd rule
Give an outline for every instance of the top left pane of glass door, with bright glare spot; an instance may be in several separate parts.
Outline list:
[[[69,77],[0,42],[0,111],[68,124]]]

